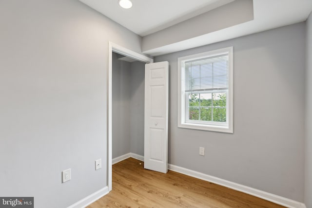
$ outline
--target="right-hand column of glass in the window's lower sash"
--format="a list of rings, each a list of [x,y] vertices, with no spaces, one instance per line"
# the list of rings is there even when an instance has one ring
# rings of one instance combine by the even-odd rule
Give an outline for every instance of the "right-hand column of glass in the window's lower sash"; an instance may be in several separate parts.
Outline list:
[[[213,120],[226,122],[226,93],[214,93],[213,106]]]

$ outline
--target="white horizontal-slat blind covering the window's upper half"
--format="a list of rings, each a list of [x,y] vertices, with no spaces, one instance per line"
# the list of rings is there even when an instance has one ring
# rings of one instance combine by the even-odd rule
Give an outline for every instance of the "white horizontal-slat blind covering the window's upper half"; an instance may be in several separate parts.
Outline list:
[[[228,71],[228,54],[185,61],[185,92],[228,89]]]

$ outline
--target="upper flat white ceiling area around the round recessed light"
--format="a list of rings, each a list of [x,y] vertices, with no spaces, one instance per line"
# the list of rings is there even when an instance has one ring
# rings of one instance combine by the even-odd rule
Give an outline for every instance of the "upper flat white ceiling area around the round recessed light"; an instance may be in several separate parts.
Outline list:
[[[80,0],[139,36],[146,36],[234,0],[131,0],[123,9],[118,0]]]

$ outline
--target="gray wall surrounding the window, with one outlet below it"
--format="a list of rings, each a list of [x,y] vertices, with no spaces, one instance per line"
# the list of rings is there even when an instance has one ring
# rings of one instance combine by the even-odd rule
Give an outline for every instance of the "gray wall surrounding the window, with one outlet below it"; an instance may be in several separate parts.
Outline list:
[[[234,133],[177,128],[177,58],[234,46]],[[305,23],[159,56],[169,163],[303,202]],[[199,147],[206,155],[199,155]]]

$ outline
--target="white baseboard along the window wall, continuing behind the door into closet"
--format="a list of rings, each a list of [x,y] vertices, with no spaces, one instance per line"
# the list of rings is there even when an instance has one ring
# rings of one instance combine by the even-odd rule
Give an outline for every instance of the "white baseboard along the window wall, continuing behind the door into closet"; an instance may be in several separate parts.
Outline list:
[[[144,161],[144,156],[141,156],[141,155],[138,155],[138,154],[134,154],[134,153],[128,153],[128,154],[131,155],[130,157],[133,157],[133,158],[136,158],[136,159],[140,158],[138,160]],[[128,155],[128,154],[126,154],[126,155]],[[258,197],[260,199],[264,199],[264,200],[273,202],[275,204],[282,205],[282,206],[287,207],[287,208],[307,208],[305,206],[305,204],[303,204],[301,202],[294,201],[292,199],[288,199],[288,198],[285,198],[285,197],[282,197],[282,196],[278,196],[278,195],[275,195],[275,194],[272,194],[272,193],[269,193],[269,192],[266,192],[266,191],[262,191],[262,190],[259,190],[259,189],[254,189],[254,188],[251,188],[251,187],[247,187],[247,186],[244,186],[244,185],[241,185],[241,184],[237,184],[237,183],[234,183],[234,182],[231,182],[231,181],[227,181],[227,180],[224,180],[224,179],[221,179],[221,178],[218,178],[218,177],[215,177],[215,176],[207,175],[207,174],[204,174],[204,173],[201,173],[201,172],[197,172],[197,171],[194,171],[194,170],[189,170],[189,169],[186,169],[186,168],[182,168],[182,167],[179,167],[179,166],[176,166],[176,165],[168,164],[168,170],[179,172],[179,173],[182,173],[184,175],[188,175],[188,176],[191,176],[191,177],[194,177],[194,178],[198,178],[198,179],[201,179],[201,180],[204,180],[204,181],[209,181],[211,183],[218,184],[220,186],[224,186],[224,187],[227,187],[227,188],[230,188],[230,189],[234,189],[234,190],[237,190],[237,191],[240,191],[240,192],[243,192],[243,193],[247,193],[247,194],[256,196],[256,197]]]

